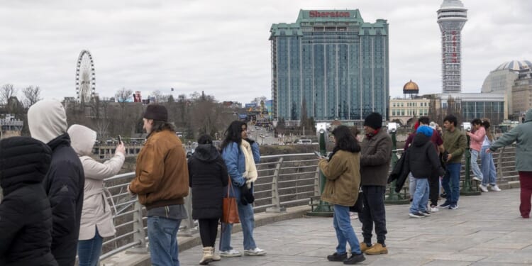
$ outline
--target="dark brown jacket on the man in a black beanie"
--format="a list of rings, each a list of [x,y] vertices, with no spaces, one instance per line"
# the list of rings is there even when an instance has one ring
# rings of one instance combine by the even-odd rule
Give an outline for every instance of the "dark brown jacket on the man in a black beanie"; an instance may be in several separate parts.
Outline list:
[[[362,186],[386,187],[389,163],[392,160],[392,138],[381,128],[377,134],[362,140],[360,177]]]

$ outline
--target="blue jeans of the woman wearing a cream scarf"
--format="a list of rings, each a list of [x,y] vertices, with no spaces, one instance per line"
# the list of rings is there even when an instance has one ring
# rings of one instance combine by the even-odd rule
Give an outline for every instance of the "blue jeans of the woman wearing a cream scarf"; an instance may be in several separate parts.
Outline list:
[[[242,233],[244,235],[244,249],[253,250],[257,248],[255,245],[255,239],[253,239],[253,227],[255,227],[255,217],[253,217],[253,207],[251,204],[240,204],[240,199],[236,198],[238,206],[238,218],[240,218],[240,224],[242,225]],[[222,223],[220,237],[220,250],[228,251],[232,250],[231,247],[231,231],[233,231],[233,224]]]

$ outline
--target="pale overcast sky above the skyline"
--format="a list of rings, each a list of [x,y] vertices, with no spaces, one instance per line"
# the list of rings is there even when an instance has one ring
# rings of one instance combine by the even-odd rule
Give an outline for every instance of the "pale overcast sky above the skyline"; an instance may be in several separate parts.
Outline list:
[[[96,92],[125,87],[143,98],[204,91],[218,101],[271,98],[270,26],[293,23],[299,9],[359,9],[389,23],[390,95],[412,79],[420,94],[441,92],[443,0],[1,1],[0,84],[75,96],[75,69],[89,50]],[[490,71],[532,60],[532,1],[462,0],[462,92],[480,92]]]

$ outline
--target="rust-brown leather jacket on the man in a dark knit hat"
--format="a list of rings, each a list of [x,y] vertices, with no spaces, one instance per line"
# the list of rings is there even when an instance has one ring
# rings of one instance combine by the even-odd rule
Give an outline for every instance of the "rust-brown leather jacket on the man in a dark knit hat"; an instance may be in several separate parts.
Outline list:
[[[171,131],[153,132],[137,157],[135,178],[129,185],[140,204],[152,209],[184,204],[189,194],[189,168],[183,145]]]

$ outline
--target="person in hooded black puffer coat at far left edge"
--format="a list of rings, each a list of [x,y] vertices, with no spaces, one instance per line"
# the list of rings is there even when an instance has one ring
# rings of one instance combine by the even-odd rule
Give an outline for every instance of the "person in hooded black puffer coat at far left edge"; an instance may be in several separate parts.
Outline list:
[[[43,181],[52,150],[33,138],[0,140],[0,265],[57,265]]]

